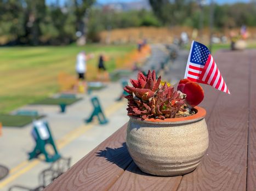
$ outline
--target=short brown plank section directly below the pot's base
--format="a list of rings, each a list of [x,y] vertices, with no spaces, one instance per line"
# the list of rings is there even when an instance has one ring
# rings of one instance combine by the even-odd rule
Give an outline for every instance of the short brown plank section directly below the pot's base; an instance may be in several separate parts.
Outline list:
[[[110,190],[177,190],[181,177],[152,176],[142,172],[132,162]]]

